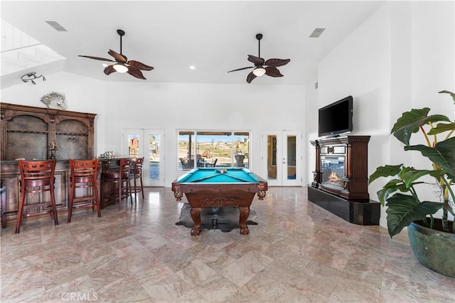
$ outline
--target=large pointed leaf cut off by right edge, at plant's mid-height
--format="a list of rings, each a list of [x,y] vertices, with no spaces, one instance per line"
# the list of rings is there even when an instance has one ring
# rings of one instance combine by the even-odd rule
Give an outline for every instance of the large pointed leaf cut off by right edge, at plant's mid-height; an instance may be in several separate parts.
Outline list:
[[[434,147],[413,145],[405,150],[420,151],[430,161],[446,171],[449,179],[455,179],[455,137],[438,142]]]

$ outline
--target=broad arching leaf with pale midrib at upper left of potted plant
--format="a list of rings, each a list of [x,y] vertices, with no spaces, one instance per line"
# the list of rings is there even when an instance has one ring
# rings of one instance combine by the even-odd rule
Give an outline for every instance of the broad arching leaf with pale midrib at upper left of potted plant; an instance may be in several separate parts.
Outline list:
[[[419,131],[419,127],[429,122],[450,122],[450,119],[444,115],[428,116],[429,108],[424,107],[420,110],[412,109],[410,112],[403,112],[402,116],[397,119],[397,122],[392,127],[393,134],[400,142],[408,146],[410,144],[411,135]]]

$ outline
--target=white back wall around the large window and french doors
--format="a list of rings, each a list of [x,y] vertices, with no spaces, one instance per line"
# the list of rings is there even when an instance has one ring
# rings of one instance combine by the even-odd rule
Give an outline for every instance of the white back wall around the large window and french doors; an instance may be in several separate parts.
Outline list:
[[[262,130],[303,132],[304,128],[303,85],[107,83],[106,87],[105,115],[111,135],[105,136],[105,149],[119,153],[122,127],[164,129],[166,186],[183,174],[177,171],[178,129],[251,131],[250,169],[259,172]]]

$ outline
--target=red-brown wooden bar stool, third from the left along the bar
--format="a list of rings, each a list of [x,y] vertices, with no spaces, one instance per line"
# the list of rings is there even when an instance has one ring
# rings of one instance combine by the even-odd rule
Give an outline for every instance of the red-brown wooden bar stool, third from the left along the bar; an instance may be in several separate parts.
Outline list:
[[[114,199],[119,199],[119,209],[120,201],[123,198],[128,196],[131,199],[131,204],[133,205],[132,189],[131,189],[131,179],[129,178],[129,171],[131,170],[132,159],[122,158],[120,159],[120,167],[118,171],[107,171],[103,173],[103,182],[113,183],[117,189],[114,188],[112,196]],[[117,191],[117,193],[116,193]]]

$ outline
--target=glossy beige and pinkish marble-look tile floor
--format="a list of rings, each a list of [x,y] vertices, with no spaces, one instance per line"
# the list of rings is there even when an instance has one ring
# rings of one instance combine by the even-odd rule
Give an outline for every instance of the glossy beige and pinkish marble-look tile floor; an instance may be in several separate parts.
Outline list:
[[[184,201],[182,201],[184,202]],[[1,230],[1,302],[454,302],[455,280],[427,270],[406,233],[353,225],[306,188],[255,198],[250,235],[178,222],[171,188],[147,188],[102,218],[82,209]]]

